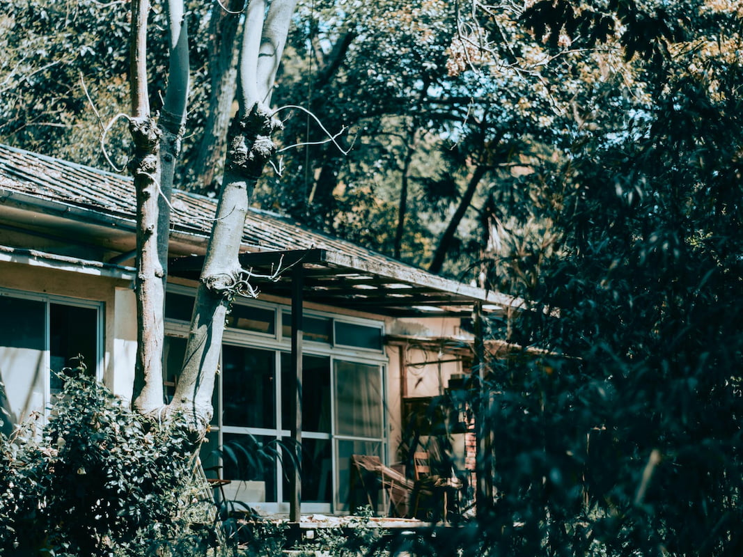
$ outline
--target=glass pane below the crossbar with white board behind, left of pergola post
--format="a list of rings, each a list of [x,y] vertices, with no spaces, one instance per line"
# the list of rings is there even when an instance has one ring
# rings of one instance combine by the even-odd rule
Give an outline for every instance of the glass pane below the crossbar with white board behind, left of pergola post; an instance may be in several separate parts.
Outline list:
[[[248,503],[276,502],[275,437],[225,433],[222,436],[222,478],[230,480],[232,498]]]

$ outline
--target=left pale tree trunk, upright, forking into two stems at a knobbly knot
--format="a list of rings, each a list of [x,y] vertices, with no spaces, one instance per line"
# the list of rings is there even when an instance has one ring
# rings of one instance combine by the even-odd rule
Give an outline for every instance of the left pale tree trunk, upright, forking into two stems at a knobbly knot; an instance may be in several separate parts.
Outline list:
[[[169,74],[160,122],[149,108],[146,22],[149,4],[132,2],[132,120],[134,157],[129,164],[137,191],[137,358],[132,407],[143,414],[163,405],[163,342],[167,281],[169,200],[181,152],[188,97],[188,33],[182,0],[169,0]]]

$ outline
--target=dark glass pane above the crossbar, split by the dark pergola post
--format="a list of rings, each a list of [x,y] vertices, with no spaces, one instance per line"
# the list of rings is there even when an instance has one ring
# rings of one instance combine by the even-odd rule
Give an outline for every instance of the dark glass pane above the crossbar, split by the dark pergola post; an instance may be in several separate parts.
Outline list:
[[[282,353],[282,427],[291,424],[291,354]],[[302,355],[302,430],[330,433],[330,358]]]

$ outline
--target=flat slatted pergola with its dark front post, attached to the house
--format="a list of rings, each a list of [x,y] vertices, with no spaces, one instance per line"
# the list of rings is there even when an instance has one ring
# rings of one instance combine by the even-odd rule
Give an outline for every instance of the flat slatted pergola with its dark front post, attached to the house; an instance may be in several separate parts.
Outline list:
[[[290,415],[291,439],[302,441],[302,307],[316,302],[395,317],[475,316],[504,313],[521,304],[502,294],[487,292],[424,271],[380,264],[323,249],[242,253],[241,267],[253,273],[256,287],[291,299],[291,377],[294,391]],[[198,280],[203,255],[175,258],[169,273]],[[269,278],[270,277],[270,278]],[[476,351],[477,354],[477,351]],[[290,476],[290,521],[300,520],[299,471]]]

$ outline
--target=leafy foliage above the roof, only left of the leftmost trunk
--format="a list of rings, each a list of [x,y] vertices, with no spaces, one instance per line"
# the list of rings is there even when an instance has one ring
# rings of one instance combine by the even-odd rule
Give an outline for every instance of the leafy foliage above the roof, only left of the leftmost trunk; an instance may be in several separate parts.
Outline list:
[[[129,24],[118,4],[22,0],[0,16],[0,137],[103,164],[99,123],[82,83],[110,118],[126,104]],[[114,136],[114,145],[120,146]]]

